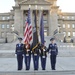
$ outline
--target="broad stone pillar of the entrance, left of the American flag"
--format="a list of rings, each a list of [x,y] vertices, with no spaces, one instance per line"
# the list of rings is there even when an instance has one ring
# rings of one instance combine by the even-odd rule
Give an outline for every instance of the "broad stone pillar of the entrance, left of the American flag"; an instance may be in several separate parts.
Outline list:
[[[15,9],[15,13],[14,13],[14,30],[15,30],[15,32],[17,32],[19,35],[20,35],[20,33],[21,33],[21,20],[22,20],[22,18],[21,18],[21,10],[20,10],[20,8],[19,7],[15,7],[14,8]]]

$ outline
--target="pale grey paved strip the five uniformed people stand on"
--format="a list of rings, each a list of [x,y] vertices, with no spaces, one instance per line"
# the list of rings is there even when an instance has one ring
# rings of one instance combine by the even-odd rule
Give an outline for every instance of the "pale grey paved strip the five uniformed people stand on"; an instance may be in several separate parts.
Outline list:
[[[57,57],[56,70],[57,71],[75,70],[75,57]],[[17,60],[16,60],[16,58],[0,58],[0,71],[17,71]],[[25,65],[24,64],[23,64],[23,70],[22,71],[25,71]],[[34,71],[33,59],[31,61],[30,71]],[[42,71],[40,63],[39,63],[39,71]],[[46,71],[51,71],[49,58],[47,58]]]

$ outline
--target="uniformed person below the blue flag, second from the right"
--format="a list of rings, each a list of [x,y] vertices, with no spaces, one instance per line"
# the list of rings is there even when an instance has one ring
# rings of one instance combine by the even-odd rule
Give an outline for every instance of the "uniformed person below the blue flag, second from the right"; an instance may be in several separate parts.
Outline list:
[[[46,46],[42,45],[40,47],[40,57],[41,57],[41,67],[42,70],[46,69],[46,58],[47,58],[47,48]]]

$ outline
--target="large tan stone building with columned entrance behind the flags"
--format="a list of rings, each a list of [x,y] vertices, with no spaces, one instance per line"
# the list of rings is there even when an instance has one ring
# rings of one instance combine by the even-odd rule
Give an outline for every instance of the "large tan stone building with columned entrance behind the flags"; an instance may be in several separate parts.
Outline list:
[[[30,14],[33,26],[34,11],[37,5],[38,30],[43,12],[45,36],[57,34],[59,37],[63,35],[66,39],[73,38],[75,36],[75,13],[61,12],[56,2],[57,0],[15,0],[15,6],[11,12],[0,13],[0,38],[10,39],[15,35],[23,36],[29,5],[31,5]]]

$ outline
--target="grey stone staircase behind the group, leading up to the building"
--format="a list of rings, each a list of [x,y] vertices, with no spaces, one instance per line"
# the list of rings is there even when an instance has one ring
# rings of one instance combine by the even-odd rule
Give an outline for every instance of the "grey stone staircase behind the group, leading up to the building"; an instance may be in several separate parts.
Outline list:
[[[50,43],[50,38],[51,37],[45,37],[47,47]],[[0,58],[5,58],[5,57],[13,58],[15,56],[15,47],[17,43],[18,40],[12,43],[0,44]],[[57,45],[59,50],[59,54],[58,54],[59,57],[60,56],[75,57],[75,46],[72,43],[57,42]]]

